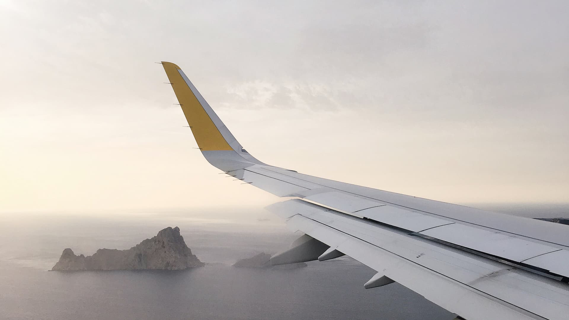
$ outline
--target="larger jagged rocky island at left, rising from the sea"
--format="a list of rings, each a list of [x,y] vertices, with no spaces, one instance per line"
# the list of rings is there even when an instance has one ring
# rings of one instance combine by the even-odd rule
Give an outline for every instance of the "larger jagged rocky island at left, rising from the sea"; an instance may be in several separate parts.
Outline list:
[[[98,249],[85,257],[67,248],[51,270],[182,270],[203,265],[185,244],[180,228],[168,227],[127,250]]]

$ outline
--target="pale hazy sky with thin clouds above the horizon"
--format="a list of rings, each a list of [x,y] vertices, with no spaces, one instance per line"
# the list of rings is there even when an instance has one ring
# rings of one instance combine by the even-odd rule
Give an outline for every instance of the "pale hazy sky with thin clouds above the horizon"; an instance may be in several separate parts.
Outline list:
[[[455,203],[569,202],[567,1],[0,0],[0,211],[263,206],[162,65],[302,173]]]

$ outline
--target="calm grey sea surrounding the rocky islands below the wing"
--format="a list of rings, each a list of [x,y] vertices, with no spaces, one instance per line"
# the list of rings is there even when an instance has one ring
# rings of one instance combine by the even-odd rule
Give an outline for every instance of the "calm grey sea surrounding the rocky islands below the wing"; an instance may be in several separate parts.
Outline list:
[[[569,204],[476,207],[569,218]],[[176,271],[48,271],[64,248],[77,255],[128,249],[176,226],[207,265]],[[397,283],[364,289],[375,272],[349,257],[296,269],[232,266],[259,252],[282,251],[300,235],[258,208],[5,212],[0,214],[0,319],[454,318]]]

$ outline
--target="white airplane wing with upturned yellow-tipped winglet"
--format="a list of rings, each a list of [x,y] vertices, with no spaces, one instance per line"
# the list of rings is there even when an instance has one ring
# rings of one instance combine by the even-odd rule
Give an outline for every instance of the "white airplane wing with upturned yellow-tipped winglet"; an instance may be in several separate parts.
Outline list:
[[[267,207],[304,236],[273,264],[348,255],[468,320],[568,319],[569,227],[298,173],[254,158],[175,64],[162,62],[201,153],[287,198]]]

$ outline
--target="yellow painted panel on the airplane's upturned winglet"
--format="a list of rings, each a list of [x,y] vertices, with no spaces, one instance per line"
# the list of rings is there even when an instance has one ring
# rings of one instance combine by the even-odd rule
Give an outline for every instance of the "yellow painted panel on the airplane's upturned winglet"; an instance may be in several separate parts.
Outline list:
[[[180,75],[180,67],[171,62],[162,61],[164,71],[168,75],[168,80],[172,84],[172,89],[178,98],[178,103],[182,106],[185,120],[192,129],[193,137],[196,138],[197,146],[202,151],[208,150],[233,150],[207,112],[205,112],[200,101],[197,100],[192,90],[185,83],[184,78]]]

